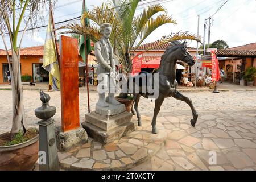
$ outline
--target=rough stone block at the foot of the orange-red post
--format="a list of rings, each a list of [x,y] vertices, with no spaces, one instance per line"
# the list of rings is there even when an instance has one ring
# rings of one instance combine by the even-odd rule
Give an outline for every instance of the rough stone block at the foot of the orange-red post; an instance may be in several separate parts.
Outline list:
[[[56,133],[57,148],[60,151],[68,151],[76,146],[85,144],[88,139],[88,135],[82,127],[78,129],[61,132],[59,129]]]

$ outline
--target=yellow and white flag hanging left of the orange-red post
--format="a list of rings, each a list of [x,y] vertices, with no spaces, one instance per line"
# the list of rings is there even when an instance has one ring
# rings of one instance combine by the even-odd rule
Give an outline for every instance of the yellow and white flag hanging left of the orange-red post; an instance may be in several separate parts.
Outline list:
[[[49,85],[54,90],[60,90],[60,69],[57,62],[56,45],[53,34],[53,24],[51,13],[49,13],[49,23],[46,32],[46,42],[44,43],[43,68],[49,72]]]

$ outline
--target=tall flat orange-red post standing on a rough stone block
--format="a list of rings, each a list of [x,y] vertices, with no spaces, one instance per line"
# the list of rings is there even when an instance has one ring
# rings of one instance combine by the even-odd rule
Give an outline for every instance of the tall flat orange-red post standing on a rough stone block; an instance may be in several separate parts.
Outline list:
[[[76,38],[60,38],[60,93],[62,131],[80,127],[78,42]]]

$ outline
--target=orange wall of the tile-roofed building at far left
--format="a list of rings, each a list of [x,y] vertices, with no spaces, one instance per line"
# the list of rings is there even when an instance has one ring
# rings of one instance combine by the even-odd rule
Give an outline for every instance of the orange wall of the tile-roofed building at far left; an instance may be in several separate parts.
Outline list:
[[[43,56],[20,56],[21,74],[32,76],[32,64],[40,63],[40,58],[43,58]],[[8,63],[6,56],[0,56],[0,84],[3,84],[3,63]]]

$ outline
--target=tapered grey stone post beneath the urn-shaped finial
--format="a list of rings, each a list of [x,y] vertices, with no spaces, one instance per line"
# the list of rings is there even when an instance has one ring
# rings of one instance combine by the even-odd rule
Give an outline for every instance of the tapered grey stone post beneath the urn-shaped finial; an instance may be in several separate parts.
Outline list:
[[[39,121],[39,152],[45,152],[45,163],[39,163],[40,171],[59,170],[59,159],[56,147],[56,138],[54,132],[54,120],[47,119]],[[44,154],[42,157],[44,157]]]

